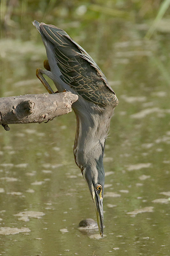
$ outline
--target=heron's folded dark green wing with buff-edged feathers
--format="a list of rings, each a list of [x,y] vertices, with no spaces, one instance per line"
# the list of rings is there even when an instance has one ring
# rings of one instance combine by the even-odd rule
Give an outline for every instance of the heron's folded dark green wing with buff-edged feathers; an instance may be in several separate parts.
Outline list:
[[[85,100],[105,107],[118,104],[115,92],[98,65],[62,29],[40,23],[40,31],[54,45],[60,78]]]

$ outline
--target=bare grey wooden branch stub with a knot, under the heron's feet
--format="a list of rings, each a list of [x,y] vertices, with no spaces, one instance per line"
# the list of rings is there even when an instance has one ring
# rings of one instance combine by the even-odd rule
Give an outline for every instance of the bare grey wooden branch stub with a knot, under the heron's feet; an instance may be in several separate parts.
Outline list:
[[[78,95],[71,92],[27,94],[0,98],[0,124],[9,131],[8,124],[41,123],[71,111]]]

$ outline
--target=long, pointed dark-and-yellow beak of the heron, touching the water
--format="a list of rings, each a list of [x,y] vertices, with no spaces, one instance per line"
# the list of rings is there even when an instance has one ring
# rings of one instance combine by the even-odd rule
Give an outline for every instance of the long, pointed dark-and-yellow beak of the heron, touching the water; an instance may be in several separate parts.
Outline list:
[[[100,236],[103,237],[103,198],[97,192],[95,192],[95,196],[93,198],[96,216],[97,216],[97,224],[100,231]]]

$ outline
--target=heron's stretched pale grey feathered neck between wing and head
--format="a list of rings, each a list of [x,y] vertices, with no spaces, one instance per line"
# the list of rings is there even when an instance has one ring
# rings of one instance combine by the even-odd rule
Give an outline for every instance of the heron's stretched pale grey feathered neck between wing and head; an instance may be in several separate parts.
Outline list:
[[[89,161],[103,158],[105,140],[113,111],[88,111],[77,114],[77,131],[74,143],[74,156],[82,170]]]

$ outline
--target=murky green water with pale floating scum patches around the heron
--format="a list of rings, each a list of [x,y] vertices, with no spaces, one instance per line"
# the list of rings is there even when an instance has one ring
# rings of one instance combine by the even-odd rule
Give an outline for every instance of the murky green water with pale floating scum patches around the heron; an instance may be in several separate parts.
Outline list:
[[[119,99],[104,157],[106,236],[92,239],[98,231],[77,229],[79,221],[96,217],[74,162],[72,112],[47,124],[1,127],[0,232],[18,229],[0,234],[0,255],[170,254],[170,35],[145,41],[145,31],[130,22],[100,22],[67,31]],[[29,26],[31,41],[0,41],[1,97],[45,92],[35,76],[45,48]]]

